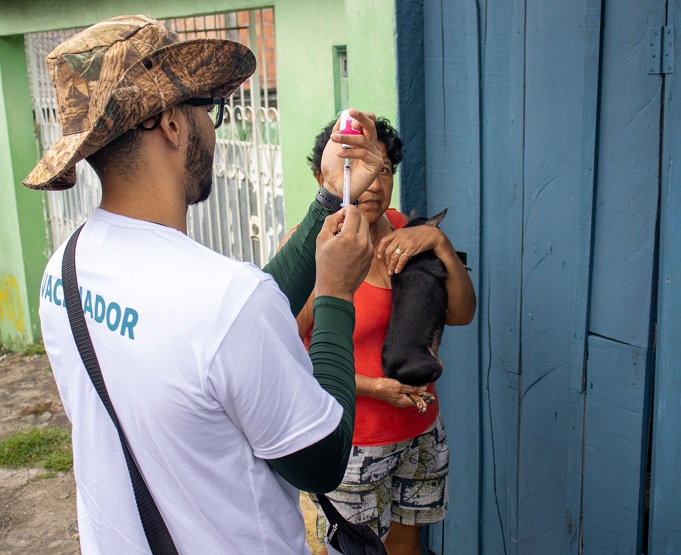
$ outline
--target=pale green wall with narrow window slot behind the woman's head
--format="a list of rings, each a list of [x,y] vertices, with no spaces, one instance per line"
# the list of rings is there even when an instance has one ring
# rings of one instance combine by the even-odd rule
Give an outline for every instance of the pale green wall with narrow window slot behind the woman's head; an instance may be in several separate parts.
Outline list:
[[[394,0],[280,1],[275,24],[286,221],[291,227],[317,189],[306,162],[314,138],[336,115],[334,46],[347,47],[350,106],[397,123]],[[396,187],[393,206],[398,200]]]

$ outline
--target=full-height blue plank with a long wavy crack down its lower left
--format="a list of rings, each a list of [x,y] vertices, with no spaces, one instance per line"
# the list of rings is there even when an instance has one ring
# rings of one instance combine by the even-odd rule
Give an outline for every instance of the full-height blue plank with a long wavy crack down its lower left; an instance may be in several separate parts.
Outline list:
[[[481,26],[481,552],[511,555],[518,553],[524,3],[489,2]]]

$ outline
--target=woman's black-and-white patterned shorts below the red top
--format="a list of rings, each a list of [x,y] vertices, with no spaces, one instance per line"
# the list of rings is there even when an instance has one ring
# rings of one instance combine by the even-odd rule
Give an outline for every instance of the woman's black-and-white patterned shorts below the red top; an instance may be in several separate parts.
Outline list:
[[[351,522],[366,523],[385,540],[391,522],[423,526],[447,511],[449,448],[442,415],[413,439],[378,447],[353,446],[343,483],[327,494]],[[329,523],[318,508],[317,539]]]

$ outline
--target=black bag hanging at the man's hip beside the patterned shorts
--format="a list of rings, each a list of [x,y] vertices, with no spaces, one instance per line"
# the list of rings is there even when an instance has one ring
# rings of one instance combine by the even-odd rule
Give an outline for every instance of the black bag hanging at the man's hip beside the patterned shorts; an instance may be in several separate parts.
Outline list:
[[[348,522],[323,493],[317,493],[317,500],[329,521],[327,543],[343,555],[388,555],[378,537],[367,524]]]

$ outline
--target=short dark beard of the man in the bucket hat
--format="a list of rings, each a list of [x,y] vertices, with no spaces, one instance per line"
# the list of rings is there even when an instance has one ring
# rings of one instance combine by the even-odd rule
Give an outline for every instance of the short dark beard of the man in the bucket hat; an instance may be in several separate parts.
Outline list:
[[[187,157],[182,170],[187,204],[198,204],[206,200],[213,189],[213,157],[215,149],[206,144],[199,132],[194,114],[189,121]]]

